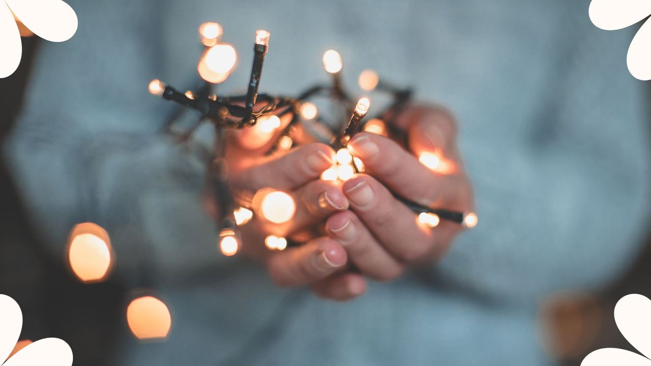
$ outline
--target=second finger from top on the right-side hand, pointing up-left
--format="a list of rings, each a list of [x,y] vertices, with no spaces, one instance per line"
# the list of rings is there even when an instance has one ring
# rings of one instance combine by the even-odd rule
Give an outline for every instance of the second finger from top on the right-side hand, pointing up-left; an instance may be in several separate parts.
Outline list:
[[[444,248],[434,245],[434,231],[380,182],[368,175],[346,181],[344,194],[368,230],[396,259],[414,263],[436,259]]]

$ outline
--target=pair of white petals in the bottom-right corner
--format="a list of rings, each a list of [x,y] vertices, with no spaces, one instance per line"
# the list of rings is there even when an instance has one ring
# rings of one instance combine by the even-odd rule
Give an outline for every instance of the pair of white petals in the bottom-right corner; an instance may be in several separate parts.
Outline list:
[[[628,343],[646,357],[620,348],[601,348],[585,356],[581,366],[651,366],[651,300],[638,294],[624,296],[615,305],[615,322]]]

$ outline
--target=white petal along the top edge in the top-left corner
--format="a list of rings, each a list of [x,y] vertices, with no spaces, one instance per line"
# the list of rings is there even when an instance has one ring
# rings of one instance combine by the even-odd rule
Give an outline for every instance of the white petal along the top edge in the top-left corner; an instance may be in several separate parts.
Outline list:
[[[16,17],[37,36],[63,42],[77,31],[77,14],[61,0],[5,0]]]

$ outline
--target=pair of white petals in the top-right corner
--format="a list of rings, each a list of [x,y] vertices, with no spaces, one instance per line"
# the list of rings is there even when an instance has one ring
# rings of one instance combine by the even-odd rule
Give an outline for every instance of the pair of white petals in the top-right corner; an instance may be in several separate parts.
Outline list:
[[[592,0],[590,20],[605,31],[626,28],[651,15],[648,0]],[[651,22],[646,21],[633,37],[626,57],[628,70],[640,80],[651,79]]]

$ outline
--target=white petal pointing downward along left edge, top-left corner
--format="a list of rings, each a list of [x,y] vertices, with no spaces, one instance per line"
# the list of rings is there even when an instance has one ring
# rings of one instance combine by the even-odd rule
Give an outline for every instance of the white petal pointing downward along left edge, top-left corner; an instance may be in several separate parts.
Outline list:
[[[20,57],[23,55],[18,25],[4,1],[0,1],[0,49],[2,50],[2,57],[0,57],[1,78],[10,76],[16,71],[20,64]]]

